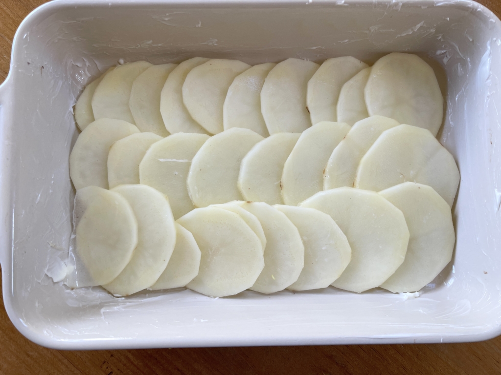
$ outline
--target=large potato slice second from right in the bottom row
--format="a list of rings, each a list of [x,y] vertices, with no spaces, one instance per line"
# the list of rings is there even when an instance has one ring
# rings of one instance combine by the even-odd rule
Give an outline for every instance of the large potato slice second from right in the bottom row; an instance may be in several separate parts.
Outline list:
[[[377,192],[338,187],[301,203],[328,213],[351,246],[351,261],[332,283],[362,292],[381,285],[402,264],[409,230],[402,211]]]

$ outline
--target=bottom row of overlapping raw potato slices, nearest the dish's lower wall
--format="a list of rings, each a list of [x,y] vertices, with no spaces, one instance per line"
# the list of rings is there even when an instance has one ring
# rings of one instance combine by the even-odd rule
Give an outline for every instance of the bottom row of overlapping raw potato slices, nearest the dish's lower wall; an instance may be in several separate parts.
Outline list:
[[[300,206],[234,201],[174,221],[168,199],[136,184],[77,192],[76,244],[116,296],[187,286],[220,297],[334,285],[416,291],[451,260],[449,205],[404,182],[379,193],[340,187]]]

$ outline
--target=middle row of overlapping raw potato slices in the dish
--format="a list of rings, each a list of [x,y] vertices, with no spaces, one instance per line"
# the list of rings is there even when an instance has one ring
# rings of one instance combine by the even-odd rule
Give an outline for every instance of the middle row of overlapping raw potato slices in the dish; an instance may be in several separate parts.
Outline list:
[[[100,119],[77,139],[70,174],[77,190],[150,185],[169,197],[176,219],[231,200],[297,205],[324,189],[380,191],[404,181],[432,186],[452,206],[459,183],[454,158],[429,130],[377,115],[267,138],[242,128],[162,138]]]

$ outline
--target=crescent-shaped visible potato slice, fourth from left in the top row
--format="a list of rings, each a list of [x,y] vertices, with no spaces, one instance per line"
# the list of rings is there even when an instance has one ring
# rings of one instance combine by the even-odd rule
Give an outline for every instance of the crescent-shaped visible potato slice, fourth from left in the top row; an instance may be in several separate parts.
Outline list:
[[[185,133],[207,133],[198,122],[191,118],[188,109],[186,109],[183,102],[182,87],[190,70],[208,60],[208,58],[204,57],[190,58],[177,65],[167,77],[160,94],[160,113],[165,127],[170,133],[174,134],[180,131]]]

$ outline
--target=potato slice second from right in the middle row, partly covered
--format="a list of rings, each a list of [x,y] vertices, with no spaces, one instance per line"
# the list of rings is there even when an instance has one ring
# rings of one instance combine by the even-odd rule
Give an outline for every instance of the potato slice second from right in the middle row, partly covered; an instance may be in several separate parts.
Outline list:
[[[353,187],[360,159],[384,130],[398,126],[398,121],[371,116],[358,121],[334,148],[324,171],[324,190]]]

